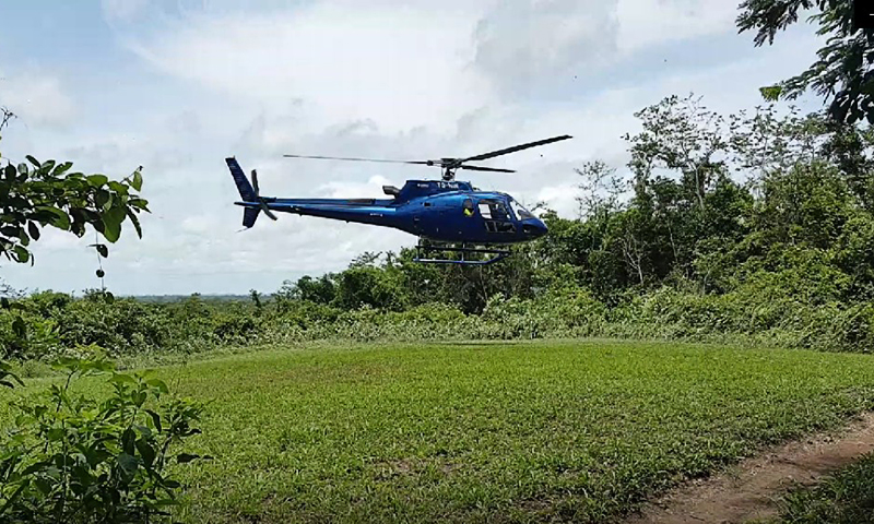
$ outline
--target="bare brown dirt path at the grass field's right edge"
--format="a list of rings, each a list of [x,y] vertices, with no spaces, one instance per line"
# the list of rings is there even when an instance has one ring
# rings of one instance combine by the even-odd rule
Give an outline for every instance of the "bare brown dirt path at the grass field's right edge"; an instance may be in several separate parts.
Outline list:
[[[714,477],[690,483],[648,503],[627,524],[743,523],[776,516],[773,503],[794,483],[820,477],[874,451],[874,413],[838,437],[820,434],[747,458]]]

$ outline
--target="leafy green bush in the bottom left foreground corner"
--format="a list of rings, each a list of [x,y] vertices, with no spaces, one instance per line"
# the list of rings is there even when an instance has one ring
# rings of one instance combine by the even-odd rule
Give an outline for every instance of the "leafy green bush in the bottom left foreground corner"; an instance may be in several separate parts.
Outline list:
[[[178,504],[170,464],[201,457],[177,452],[203,406],[168,397],[145,373],[114,371],[105,359],[61,359],[62,386],[19,401],[12,429],[0,436],[0,522],[161,522]],[[71,391],[74,381],[108,376],[103,402]]]

